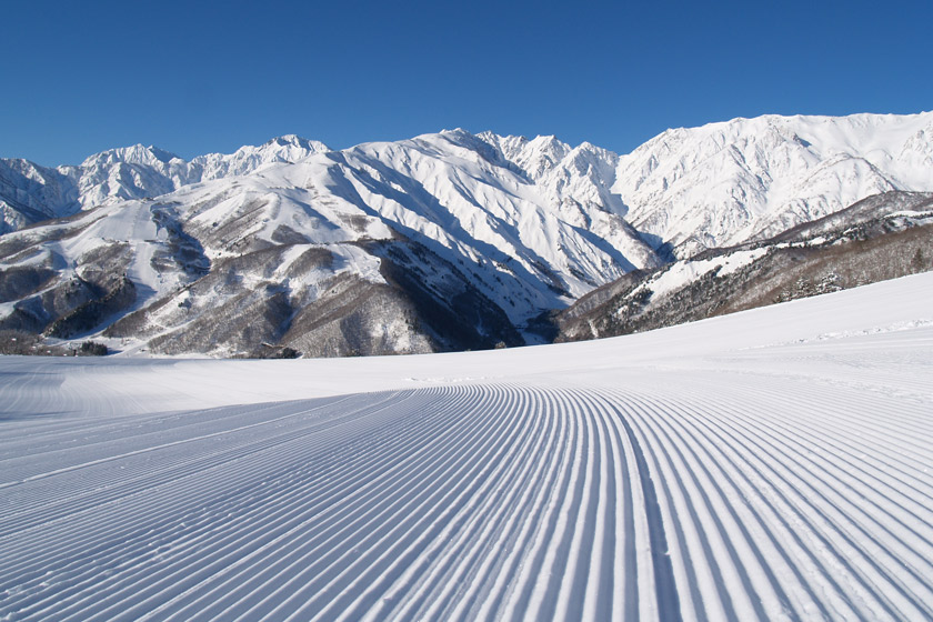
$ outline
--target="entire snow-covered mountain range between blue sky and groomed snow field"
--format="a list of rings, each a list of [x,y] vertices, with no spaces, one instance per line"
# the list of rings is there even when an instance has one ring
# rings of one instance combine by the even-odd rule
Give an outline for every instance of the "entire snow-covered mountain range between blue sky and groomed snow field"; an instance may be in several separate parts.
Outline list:
[[[735,119],[625,156],[453,130],[0,160],[0,330],[219,357],[535,343],[620,279],[927,191],[930,112]]]

